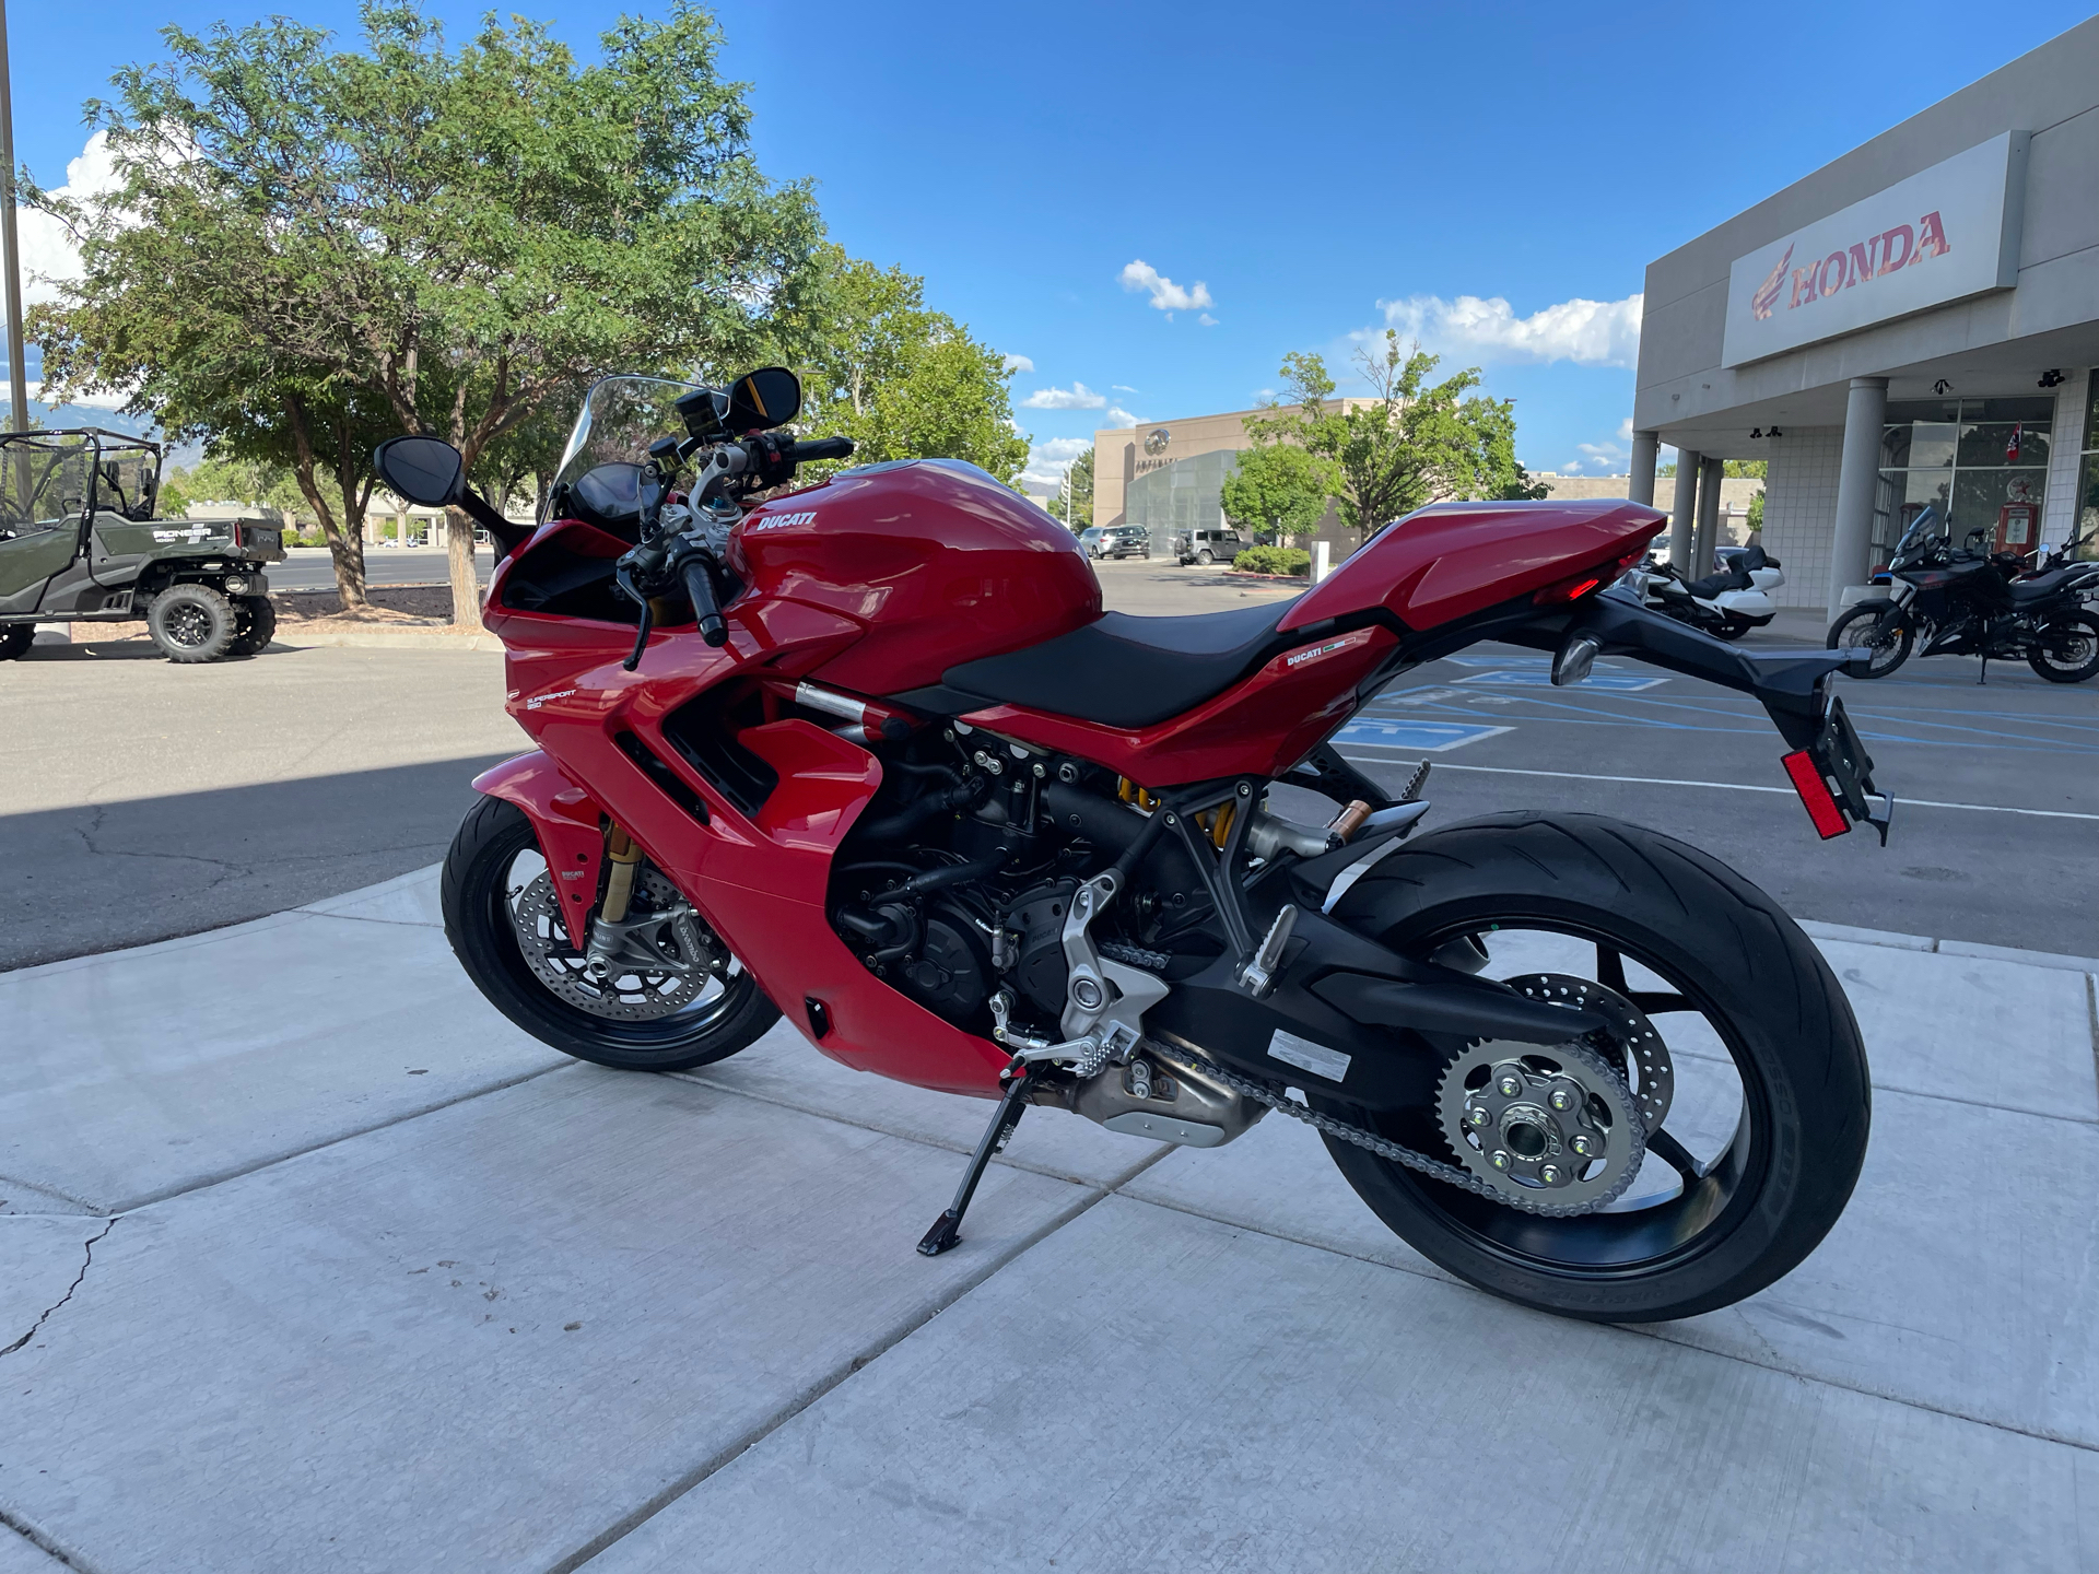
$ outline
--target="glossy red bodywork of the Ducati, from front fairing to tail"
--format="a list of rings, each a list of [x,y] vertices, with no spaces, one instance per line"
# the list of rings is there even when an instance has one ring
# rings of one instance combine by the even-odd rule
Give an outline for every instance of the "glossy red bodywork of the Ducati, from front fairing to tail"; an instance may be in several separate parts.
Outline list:
[[[968,720],[1154,789],[1276,777],[1348,720],[1398,646],[1392,619],[1350,615],[1383,609],[1406,630],[1432,628],[1608,560],[1658,520],[1625,502],[1427,510],[1291,609],[1282,630],[1306,630],[1299,644],[1184,716],[1133,732],[1016,705]],[[821,1001],[825,1054],[921,1087],[995,1096],[1005,1051],[871,978],[833,932],[833,856],[882,764],[787,716],[781,695],[804,678],[863,699],[900,695],[1094,621],[1100,588],[1077,541],[966,466],[848,474],[775,497],[737,527],[730,569],[747,590],[724,609],[724,646],[703,644],[691,623],[659,628],[636,672],[621,669],[632,613],[607,590],[626,546],[577,520],[552,523],[497,567],[485,613],[508,651],[508,709],[542,753],[476,785],[531,816],[575,944],[609,818],[804,1035],[808,1003]],[[688,756],[695,726],[709,747],[724,739],[777,777],[749,812]]]

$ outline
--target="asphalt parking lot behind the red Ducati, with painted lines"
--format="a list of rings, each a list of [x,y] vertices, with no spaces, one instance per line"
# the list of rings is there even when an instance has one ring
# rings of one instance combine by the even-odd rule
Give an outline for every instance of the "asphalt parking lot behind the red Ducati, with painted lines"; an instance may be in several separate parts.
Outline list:
[[[1222,569],[1098,571],[1106,604],[1140,615],[1295,594]],[[1816,642],[1811,619],[1788,621],[1805,630],[1753,638]],[[2099,684],[1994,667],[1979,688],[1975,663],[1935,659],[1843,693],[1904,800],[1885,850],[1864,831],[1816,839],[1753,701],[1631,663],[1555,690],[1543,657],[1482,646],[1406,674],[1341,743],[1392,783],[1432,760],[1429,825],[1505,808],[1618,814],[1725,858],[1799,917],[2099,955]],[[283,642],[210,667],[174,667],[143,640],[38,644],[0,665],[0,900],[17,915],[0,970],[434,863],[472,777],[525,743],[502,711],[497,655]]]

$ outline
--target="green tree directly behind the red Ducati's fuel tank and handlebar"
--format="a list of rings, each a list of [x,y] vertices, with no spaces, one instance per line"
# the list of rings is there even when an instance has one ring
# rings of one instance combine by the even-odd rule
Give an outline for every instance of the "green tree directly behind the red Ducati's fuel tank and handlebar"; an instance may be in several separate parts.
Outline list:
[[[800,426],[850,437],[854,464],[968,460],[1012,485],[1029,462],[1005,357],[926,306],[926,281],[821,248],[783,338],[806,346]]]

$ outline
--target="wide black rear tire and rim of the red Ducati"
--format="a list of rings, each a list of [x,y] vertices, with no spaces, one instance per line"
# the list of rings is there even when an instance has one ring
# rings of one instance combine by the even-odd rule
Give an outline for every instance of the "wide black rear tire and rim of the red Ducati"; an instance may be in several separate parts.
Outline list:
[[[1478,936],[1497,978],[1511,974],[1492,961],[1497,932],[1507,932],[1505,957],[1520,955],[1526,930],[1549,932],[1536,938],[1568,955],[1585,951],[1562,936],[1589,942],[1599,982],[1646,1012],[1665,1045],[1677,1041],[1675,1104],[1648,1135],[1646,1186],[1604,1211],[1518,1211],[1329,1137],[1356,1194],[1440,1268],[1568,1318],[1660,1322],[1755,1295],[1843,1213],[1870,1123],[1851,1003],[1784,909],[1723,863],[1602,814],[1492,814],[1402,844],[1343,894],[1335,917],[1411,957]],[[1627,963],[1660,974],[1667,991],[1629,984]],[[1679,1016],[1690,1012],[1704,1018],[1732,1075],[1713,1039]],[[1694,1163],[1669,1131],[1685,1110],[1683,1077],[1740,1081],[1713,1123],[1721,1135],[1711,1163]],[[1444,1163],[1455,1154],[1434,1112],[1366,1116],[1320,1098],[1314,1106],[1352,1123],[1375,1119]],[[1692,1135],[1688,1121],[1679,1125]]]

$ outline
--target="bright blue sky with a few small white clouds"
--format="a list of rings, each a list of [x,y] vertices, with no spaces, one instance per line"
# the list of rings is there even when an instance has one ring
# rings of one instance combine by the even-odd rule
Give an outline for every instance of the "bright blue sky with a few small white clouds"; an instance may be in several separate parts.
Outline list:
[[[472,4],[430,4],[455,38]],[[619,4],[514,6],[579,50]],[[630,0],[628,8],[636,8]],[[355,4],[17,6],[17,155],[157,29]],[[775,178],[999,350],[1050,476],[1096,426],[1257,403],[1387,323],[1513,397],[1532,470],[1625,468],[1646,264],[2078,23],[2078,4],[718,6]],[[50,237],[27,233],[31,267]],[[1031,403],[1033,401],[1033,403]]]

